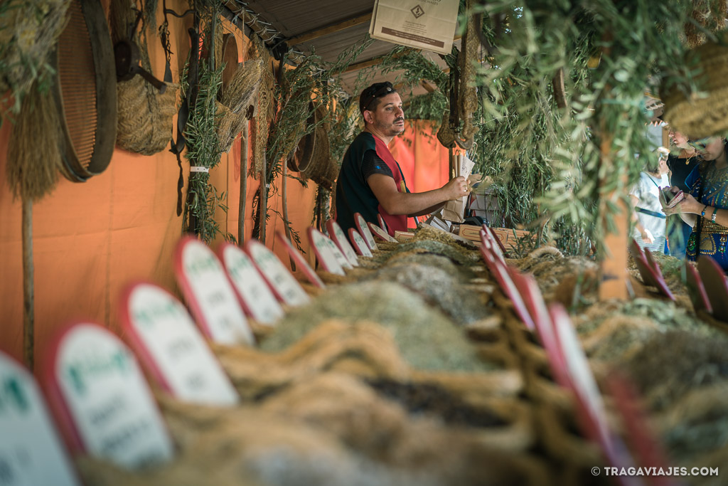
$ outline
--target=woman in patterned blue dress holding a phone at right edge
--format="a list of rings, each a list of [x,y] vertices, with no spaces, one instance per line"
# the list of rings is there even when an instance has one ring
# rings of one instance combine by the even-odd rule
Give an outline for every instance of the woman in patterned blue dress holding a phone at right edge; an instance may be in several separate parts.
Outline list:
[[[685,179],[689,192],[666,213],[680,213],[692,227],[687,242],[687,259],[709,255],[728,270],[728,144],[725,138],[709,137],[691,141],[700,162]],[[678,187],[672,187],[677,192]]]

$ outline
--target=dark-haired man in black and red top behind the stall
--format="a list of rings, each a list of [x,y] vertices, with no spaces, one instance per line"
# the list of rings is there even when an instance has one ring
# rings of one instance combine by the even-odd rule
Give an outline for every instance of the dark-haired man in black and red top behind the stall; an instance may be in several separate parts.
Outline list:
[[[402,100],[392,83],[379,82],[363,90],[359,110],[364,130],[344,154],[336,184],[336,222],[348,234],[356,228],[354,213],[378,224],[381,214],[390,235],[407,231],[408,216],[422,216],[442,208],[469,192],[462,176],[443,187],[425,192],[409,192],[399,164],[387,145],[405,130]]]

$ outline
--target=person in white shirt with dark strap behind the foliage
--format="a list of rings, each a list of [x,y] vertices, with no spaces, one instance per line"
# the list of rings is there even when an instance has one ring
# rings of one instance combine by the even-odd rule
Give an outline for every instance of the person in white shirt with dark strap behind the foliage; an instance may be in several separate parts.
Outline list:
[[[639,181],[629,193],[634,209],[632,213],[632,220],[635,222],[633,238],[641,248],[649,248],[649,251],[653,253],[665,252],[666,220],[660,203],[660,188],[670,187],[665,152],[658,149],[657,157],[650,154],[644,171],[640,173]]]

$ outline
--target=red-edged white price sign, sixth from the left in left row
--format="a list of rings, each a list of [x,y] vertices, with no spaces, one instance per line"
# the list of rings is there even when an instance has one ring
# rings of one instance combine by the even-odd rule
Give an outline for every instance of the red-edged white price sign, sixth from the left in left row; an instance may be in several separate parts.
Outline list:
[[[285,305],[306,305],[311,301],[309,294],[293,278],[275,254],[258,240],[248,240],[245,251],[261,270],[269,288]]]

